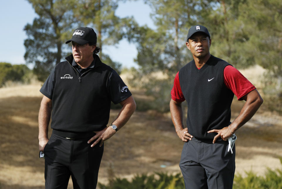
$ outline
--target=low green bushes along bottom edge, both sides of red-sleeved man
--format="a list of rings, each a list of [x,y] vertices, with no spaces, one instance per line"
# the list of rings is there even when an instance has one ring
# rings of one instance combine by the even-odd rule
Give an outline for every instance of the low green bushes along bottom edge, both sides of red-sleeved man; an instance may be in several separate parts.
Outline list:
[[[282,164],[282,158],[280,159]],[[183,189],[184,180],[181,173],[171,175],[167,173],[137,175],[128,181],[125,178],[109,178],[109,184],[98,183],[101,189]],[[282,169],[267,168],[264,176],[257,176],[253,171],[246,172],[246,176],[235,175],[233,189],[282,189]]]

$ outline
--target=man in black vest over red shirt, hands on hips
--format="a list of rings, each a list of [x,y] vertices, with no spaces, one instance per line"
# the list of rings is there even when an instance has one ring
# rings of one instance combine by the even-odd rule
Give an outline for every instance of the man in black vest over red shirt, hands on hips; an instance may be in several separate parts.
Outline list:
[[[234,133],[263,103],[256,88],[237,69],[209,53],[211,42],[206,27],[189,29],[186,45],[194,59],[176,74],[171,91],[172,121],[185,142],[179,164],[185,188],[232,188]],[[234,94],[246,103],[231,123]],[[181,103],[185,100],[188,110],[184,128]]]

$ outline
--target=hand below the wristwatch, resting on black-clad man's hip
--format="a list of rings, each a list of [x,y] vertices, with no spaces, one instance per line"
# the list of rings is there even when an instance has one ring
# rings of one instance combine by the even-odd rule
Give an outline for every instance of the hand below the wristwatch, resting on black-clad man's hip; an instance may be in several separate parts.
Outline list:
[[[93,136],[90,140],[88,140],[88,144],[90,144],[90,142],[92,142],[93,140],[95,140],[95,142],[93,142],[93,144],[91,144],[91,147],[94,147],[96,144],[98,144],[98,142],[100,142],[100,147],[103,145],[105,140],[108,140],[110,137],[112,137],[116,131],[113,130],[111,127],[105,127],[103,130],[101,131],[95,131],[95,136]]]

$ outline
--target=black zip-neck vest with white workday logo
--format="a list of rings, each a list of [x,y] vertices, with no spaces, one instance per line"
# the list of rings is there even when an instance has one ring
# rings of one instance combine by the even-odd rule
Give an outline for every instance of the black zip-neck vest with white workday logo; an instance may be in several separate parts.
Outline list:
[[[54,71],[51,128],[66,132],[102,130],[110,116],[106,86],[113,69],[95,55],[95,67],[80,77],[71,66],[72,55],[66,59]]]

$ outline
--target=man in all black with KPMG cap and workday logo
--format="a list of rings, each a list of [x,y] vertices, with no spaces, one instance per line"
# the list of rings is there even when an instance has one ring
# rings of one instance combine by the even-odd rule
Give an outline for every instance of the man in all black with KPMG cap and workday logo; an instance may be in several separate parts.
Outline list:
[[[56,65],[40,89],[38,139],[45,157],[45,188],[67,188],[71,176],[74,189],[93,189],[103,142],[125,125],[136,104],[120,76],[96,55],[100,48],[92,28],[77,28],[69,42],[72,55]],[[107,127],[111,101],[122,109]]]

